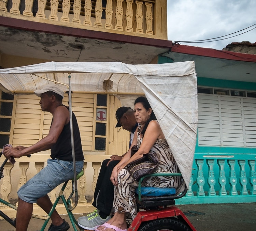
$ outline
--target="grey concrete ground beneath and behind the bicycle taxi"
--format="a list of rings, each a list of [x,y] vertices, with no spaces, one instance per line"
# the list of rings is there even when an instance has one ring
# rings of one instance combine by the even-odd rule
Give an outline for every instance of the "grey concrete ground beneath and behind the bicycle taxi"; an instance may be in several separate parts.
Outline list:
[[[255,231],[256,203],[240,204],[189,204],[176,205],[187,216],[197,231]],[[85,214],[76,214],[75,218]],[[67,215],[63,215],[69,224]],[[50,225],[45,230],[48,230]],[[43,220],[31,219],[28,231],[40,230]],[[0,231],[14,231],[7,221],[0,220]],[[70,228],[69,231],[73,231]]]

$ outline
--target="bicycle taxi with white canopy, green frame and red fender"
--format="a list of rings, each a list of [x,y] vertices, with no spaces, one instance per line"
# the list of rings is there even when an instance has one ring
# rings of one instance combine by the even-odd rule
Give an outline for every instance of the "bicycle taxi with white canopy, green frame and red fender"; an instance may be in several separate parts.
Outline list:
[[[153,173],[140,179],[136,196],[138,214],[134,220],[127,219],[128,230],[195,230],[182,211],[174,206],[174,199],[186,194],[196,144],[198,117],[194,62],[144,65],[121,62],[48,62],[0,70],[0,87],[4,92],[11,94],[32,94],[34,90],[49,82],[55,82],[68,91],[71,110],[73,92],[115,95],[123,106],[130,107],[133,107],[134,99],[138,95],[147,97],[181,173]],[[1,178],[4,176],[6,161],[7,159],[0,167]],[[75,231],[83,230],[72,214],[78,201],[76,180],[82,175],[83,172],[74,175],[72,192],[68,199],[63,195],[68,182],[62,186],[53,207],[56,207],[61,198]],[[152,188],[148,192],[141,187],[145,177],[160,175],[182,176],[183,184],[178,189],[170,188],[165,192],[161,188]],[[75,201],[72,205],[73,194]],[[17,209],[1,198],[0,202]],[[2,211],[0,216],[15,227],[15,219],[11,219]],[[45,229],[50,216],[51,212],[43,218],[32,215],[34,218],[45,220],[41,229],[38,228],[41,231]]]

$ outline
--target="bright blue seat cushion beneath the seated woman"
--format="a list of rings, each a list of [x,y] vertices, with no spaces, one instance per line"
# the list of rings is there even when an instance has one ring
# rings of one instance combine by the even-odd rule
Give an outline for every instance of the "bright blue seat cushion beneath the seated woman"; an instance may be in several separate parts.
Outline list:
[[[139,194],[139,188],[135,189],[135,193]],[[176,188],[155,188],[141,187],[141,196],[168,196],[176,194]]]

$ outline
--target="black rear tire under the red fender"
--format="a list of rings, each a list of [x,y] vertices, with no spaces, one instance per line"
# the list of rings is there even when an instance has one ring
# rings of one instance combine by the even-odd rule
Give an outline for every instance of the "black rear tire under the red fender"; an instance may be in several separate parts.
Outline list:
[[[190,227],[175,217],[159,218],[143,222],[138,231],[191,231]]]

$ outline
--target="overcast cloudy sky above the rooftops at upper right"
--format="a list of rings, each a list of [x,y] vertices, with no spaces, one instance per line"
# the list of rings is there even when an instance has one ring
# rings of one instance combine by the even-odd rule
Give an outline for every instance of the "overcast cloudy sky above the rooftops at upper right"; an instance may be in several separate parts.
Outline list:
[[[167,0],[168,40],[205,40],[256,24],[256,0]],[[256,25],[235,34],[255,28]],[[219,39],[224,39],[222,37]],[[209,43],[181,43],[222,50],[231,42],[256,42],[256,28],[230,39]]]

